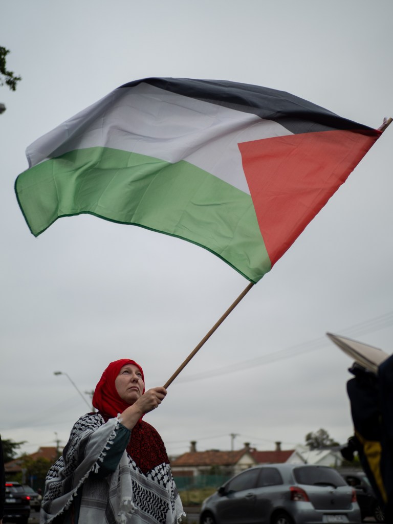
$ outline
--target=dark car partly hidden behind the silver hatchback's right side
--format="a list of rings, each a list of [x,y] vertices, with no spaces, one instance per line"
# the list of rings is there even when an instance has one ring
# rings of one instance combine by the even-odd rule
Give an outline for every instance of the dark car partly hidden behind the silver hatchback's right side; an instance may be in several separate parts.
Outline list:
[[[379,506],[367,475],[362,470],[340,470],[340,473],[345,482],[356,490],[356,497],[359,508],[361,509],[362,520],[367,517],[374,517],[377,522],[385,522],[384,512]]]

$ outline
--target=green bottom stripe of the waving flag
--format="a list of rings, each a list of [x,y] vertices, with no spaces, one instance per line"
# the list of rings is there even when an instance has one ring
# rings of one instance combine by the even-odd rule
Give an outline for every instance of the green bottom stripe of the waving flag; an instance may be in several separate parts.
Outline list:
[[[250,196],[189,162],[78,149],[21,173],[15,190],[36,236],[90,213],[198,244],[253,282],[271,269]]]

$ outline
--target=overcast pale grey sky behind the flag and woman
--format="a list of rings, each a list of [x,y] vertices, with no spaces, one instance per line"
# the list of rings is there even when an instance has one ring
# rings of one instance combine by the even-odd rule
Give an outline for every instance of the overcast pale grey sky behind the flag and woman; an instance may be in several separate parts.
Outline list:
[[[224,79],[288,91],[378,127],[393,116],[390,0],[1,0],[0,45],[23,80],[0,89],[3,439],[63,446],[107,364],[162,385],[247,280],[202,248],[83,215],[39,238],[14,181],[25,148],[139,78]],[[289,251],[148,414],[169,454],[292,448],[352,434],[351,360],[325,336],[393,350],[392,134],[388,128]]]

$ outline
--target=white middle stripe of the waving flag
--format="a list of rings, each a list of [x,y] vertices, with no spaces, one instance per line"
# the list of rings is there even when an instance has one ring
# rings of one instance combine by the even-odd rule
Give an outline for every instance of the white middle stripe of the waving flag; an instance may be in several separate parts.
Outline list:
[[[101,146],[185,160],[249,194],[237,144],[292,135],[282,125],[140,83],[118,88],[32,143],[30,166]]]

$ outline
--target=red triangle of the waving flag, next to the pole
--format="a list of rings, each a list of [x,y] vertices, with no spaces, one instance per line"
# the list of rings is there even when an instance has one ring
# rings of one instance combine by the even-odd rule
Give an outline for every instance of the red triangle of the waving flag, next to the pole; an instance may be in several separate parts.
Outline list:
[[[272,266],[379,136],[377,130],[329,130],[238,144]]]

